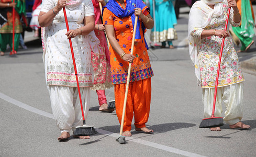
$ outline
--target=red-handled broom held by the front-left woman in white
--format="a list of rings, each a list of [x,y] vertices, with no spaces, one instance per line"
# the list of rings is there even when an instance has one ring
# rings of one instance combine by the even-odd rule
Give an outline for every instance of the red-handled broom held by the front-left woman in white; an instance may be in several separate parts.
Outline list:
[[[64,17],[65,17],[66,30],[69,31],[69,24],[68,24],[68,18],[66,17],[65,7],[63,7],[63,12],[64,12]],[[79,93],[79,99],[80,99],[80,105],[81,105],[81,111],[82,111],[82,117],[83,117],[83,124],[84,124],[83,126],[76,127],[74,135],[75,136],[90,136],[90,135],[96,134],[98,132],[93,128],[93,126],[87,126],[85,124],[83,103],[82,103],[82,98],[81,98],[81,93],[80,93],[80,86],[79,86],[79,81],[78,81],[78,76],[77,76],[77,71],[76,71],[75,56],[74,56],[71,38],[69,38],[69,44],[70,44],[70,49],[71,49],[71,54],[72,54],[72,59],[73,59],[73,64],[74,64],[75,78],[76,78],[77,89],[78,89],[78,93]]]

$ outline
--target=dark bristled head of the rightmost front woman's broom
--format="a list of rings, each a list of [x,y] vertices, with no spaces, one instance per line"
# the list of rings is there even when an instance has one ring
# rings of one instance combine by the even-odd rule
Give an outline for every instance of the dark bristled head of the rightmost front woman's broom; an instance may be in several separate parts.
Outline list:
[[[215,128],[223,125],[224,123],[222,117],[210,117],[203,119],[199,128]]]

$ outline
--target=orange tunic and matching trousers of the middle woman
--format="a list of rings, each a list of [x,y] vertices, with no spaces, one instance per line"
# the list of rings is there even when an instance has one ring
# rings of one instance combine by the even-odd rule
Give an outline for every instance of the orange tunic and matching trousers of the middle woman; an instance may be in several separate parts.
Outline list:
[[[126,5],[126,0],[124,0]],[[121,6],[120,3],[118,3]],[[147,7],[141,8],[144,15],[148,15]],[[107,8],[103,13],[104,25],[113,25],[115,29],[115,37],[119,43],[119,46],[125,51],[130,53],[131,40],[133,33],[133,26],[131,17],[119,18]],[[138,20],[140,26],[142,24],[141,19]],[[123,131],[131,130],[131,121],[133,113],[135,117],[135,127],[146,127],[146,122],[149,118],[150,100],[151,100],[151,77],[153,71],[148,56],[146,43],[144,42],[144,36],[142,28],[140,27],[140,40],[135,40],[135,46],[133,49],[133,55],[135,59],[131,65],[131,75],[129,90],[127,96],[125,120]],[[121,124],[121,117],[123,114],[123,105],[127,81],[127,73],[129,63],[120,58],[112,46],[109,47],[110,51],[110,65],[112,82],[115,84],[115,100],[116,100],[116,114]]]

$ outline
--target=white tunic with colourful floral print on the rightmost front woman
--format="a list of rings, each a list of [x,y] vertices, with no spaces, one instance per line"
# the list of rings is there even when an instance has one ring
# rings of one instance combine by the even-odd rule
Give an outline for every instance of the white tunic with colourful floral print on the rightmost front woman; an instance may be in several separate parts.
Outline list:
[[[224,30],[228,6],[226,4],[223,6],[223,14],[219,17],[213,17],[208,26],[204,29]],[[240,23],[235,23],[232,19],[233,14],[230,14],[230,24],[235,27],[239,26]],[[204,29],[194,30],[192,36],[200,39]],[[203,38],[198,42],[197,50],[202,88],[215,87],[221,42],[222,38],[217,36]],[[244,78],[239,66],[237,53],[233,47],[232,39],[231,37],[226,37],[222,51],[218,87],[236,84],[242,81],[244,81]]]

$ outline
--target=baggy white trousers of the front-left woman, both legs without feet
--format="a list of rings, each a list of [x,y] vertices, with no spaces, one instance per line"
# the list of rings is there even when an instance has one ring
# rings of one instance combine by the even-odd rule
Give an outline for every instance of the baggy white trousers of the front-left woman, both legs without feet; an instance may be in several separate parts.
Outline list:
[[[85,120],[90,106],[90,90],[90,87],[80,88]],[[75,127],[83,125],[77,87],[49,86],[49,93],[52,114],[61,132],[75,131]]]

